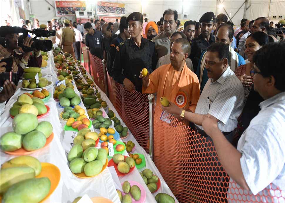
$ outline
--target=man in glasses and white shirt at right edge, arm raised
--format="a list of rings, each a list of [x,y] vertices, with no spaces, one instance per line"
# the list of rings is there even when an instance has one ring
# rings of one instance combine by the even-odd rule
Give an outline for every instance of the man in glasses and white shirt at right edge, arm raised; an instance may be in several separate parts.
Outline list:
[[[235,149],[219,130],[217,121],[205,116],[202,126],[231,177],[228,202],[284,202],[285,200],[285,43],[269,43],[256,51],[250,71],[254,90],[264,101],[261,110],[239,139]],[[239,191],[235,194],[234,191]],[[257,195],[258,196],[255,196]],[[270,201],[269,201],[270,200]]]

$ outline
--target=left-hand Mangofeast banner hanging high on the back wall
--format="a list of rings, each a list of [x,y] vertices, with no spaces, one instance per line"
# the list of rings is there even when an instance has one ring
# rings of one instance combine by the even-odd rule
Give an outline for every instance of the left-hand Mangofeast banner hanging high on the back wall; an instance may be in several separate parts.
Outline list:
[[[75,11],[85,11],[85,1],[54,1],[56,16],[75,16]]]

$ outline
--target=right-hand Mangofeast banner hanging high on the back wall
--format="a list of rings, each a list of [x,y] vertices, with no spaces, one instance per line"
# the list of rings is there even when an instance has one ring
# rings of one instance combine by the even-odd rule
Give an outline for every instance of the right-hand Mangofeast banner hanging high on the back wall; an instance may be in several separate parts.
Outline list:
[[[125,14],[125,4],[97,1],[97,15],[123,16]]]

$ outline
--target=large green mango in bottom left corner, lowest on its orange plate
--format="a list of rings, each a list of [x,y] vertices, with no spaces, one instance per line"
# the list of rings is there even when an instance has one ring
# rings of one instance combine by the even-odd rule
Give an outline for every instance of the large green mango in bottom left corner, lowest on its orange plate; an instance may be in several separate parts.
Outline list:
[[[41,202],[50,189],[51,181],[47,177],[26,179],[12,185],[4,194],[2,201]]]

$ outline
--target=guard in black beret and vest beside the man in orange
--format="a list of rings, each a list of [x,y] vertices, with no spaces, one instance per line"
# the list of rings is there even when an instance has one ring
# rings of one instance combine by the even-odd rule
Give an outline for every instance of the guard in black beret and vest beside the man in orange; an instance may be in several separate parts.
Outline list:
[[[128,90],[142,91],[140,71],[147,68],[151,73],[157,63],[155,44],[142,37],[143,14],[131,13],[127,19],[130,39],[116,47],[117,52],[112,68],[112,76]],[[123,73],[122,73],[123,69]]]

